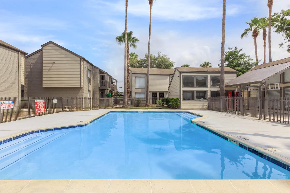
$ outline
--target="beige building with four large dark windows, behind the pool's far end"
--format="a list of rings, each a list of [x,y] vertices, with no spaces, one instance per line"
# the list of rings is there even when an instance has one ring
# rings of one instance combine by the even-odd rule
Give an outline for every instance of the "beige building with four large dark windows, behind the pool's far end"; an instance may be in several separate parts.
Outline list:
[[[225,82],[235,79],[237,73],[226,67]],[[235,87],[227,87],[226,93],[234,90]],[[180,109],[207,109],[210,96],[220,96],[220,68],[175,68],[168,97],[180,98]]]

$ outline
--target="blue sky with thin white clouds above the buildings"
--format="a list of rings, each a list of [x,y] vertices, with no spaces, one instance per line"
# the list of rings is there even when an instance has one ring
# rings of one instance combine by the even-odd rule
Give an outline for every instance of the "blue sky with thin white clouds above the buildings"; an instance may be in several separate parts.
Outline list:
[[[54,41],[107,71],[124,87],[124,47],[115,37],[125,29],[125,0],[0,0],[0,39],[32,53]],[[290,9],[289,0],[274,0],[273,12]],[[228,0],[226,4],[225,50],[242,48],[255,58],[251,36],[240,38],[254,16],[267,17],[267,0]],[[140,43],[136,52],[148,52],[149,3],[128,0],[128,31]],[[161,52],[175,67],[199,67],[220,63],[222,0],[156,0],[152,6],[151,53]],[[281,34],[272,29],[272,60],[290,57],[279,47]],[[258,59],[263,61],[263,40],[258,37]],[[268,41],[267,41],[268,46]],[[268,47],[267,47],[267,59]],[[259,63],[261,64],[262,61]]]

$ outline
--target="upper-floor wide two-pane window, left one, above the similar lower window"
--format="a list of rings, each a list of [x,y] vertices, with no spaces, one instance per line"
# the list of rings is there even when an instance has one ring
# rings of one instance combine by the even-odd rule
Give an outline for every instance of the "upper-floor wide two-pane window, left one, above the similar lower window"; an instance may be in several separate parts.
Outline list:
[[[183,87],[207,87],[208,76],[182,76]]]

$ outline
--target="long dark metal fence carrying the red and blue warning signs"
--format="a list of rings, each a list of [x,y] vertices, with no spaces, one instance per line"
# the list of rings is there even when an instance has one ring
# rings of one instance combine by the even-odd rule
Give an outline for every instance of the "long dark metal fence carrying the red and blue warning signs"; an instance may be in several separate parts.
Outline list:
[[[157,106],[161,98],[149,98]],[[123,106],[123,97],[3,97],[0,98],[0,123],[66,111],[88,111]],[[12,105],[13,104],[13,105]],[[145,106],[146,98],[129,98],[129,107]]]

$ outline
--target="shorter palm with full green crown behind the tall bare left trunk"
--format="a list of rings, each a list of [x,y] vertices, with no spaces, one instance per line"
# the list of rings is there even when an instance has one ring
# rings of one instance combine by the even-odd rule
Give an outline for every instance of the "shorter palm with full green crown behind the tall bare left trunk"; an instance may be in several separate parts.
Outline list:
[[[125,42],[125,32],[122,33],[121,36],[116,37],[116,41],[119,45],[122,45]],[[129,95],[130,95],[130,70],[129,70],[129,45],[131,48],[136,49],[136,43],[140,42],[135,36],[133,36],[133,31],[127,33],[127,80],[126,80],[126,87],[127,87],[127,102],[129,102]]]

